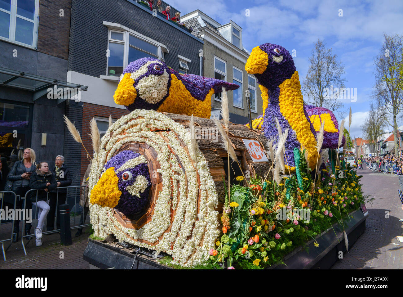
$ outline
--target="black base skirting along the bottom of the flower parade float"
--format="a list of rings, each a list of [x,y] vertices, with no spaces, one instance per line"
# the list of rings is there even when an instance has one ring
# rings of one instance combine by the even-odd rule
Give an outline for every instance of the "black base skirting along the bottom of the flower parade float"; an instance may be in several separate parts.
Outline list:
[[[351,221],[348,218],[344,220],[349,247],[364,233],[368,215],[364,216],[361,209],[357,209],[350,213],[350,218]],[[316,241],[319,247],[315,247],[315,241],[311,241],[307,244],[308,251],[301,247],[297,248],[285,257],[286,265],[272,266],[268,269],[328,269],[346,253],[343,229],[337,224],[318,236]],[[141,254],[135,258],[135,251],[119,249],[114,244],[92,239],[89,239],[83,258],[89,263],[90,268],[94,269],[171,269],[158,264],[156,259]]]

